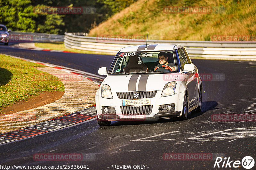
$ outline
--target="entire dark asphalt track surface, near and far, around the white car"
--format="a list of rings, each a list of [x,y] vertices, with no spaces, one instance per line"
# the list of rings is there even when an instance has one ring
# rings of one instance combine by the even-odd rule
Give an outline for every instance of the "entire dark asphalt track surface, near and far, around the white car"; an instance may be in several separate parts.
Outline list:
[[[94,74],[99,67],[109,67],[114,57],[30,51],[6,46],[0,46],[0,53]],[[211,118],[213,114],[256,114],[256,62],[192,61],[199,73],[224,74],[225,80],[203,81],[202,112],[190,113],[188,120],[115,121],[110,126],[100,127],[95,119],[91,119],[0,145],[0,165],[88,165],[90,169],[114,169],[113,165],[132,165],[133,169],[134,165],[145,165],[145,169],[221,169],[213,168],[215,159],[164,160],[164,153],[211,153],[225,155],[234,161],[251,156],[256,160],[255,121],[220,122]],[[89,155],[89,159],[37,161],[33,155],[38,153],[81,153]],[[237,169],[244,169],[240,166]]]

